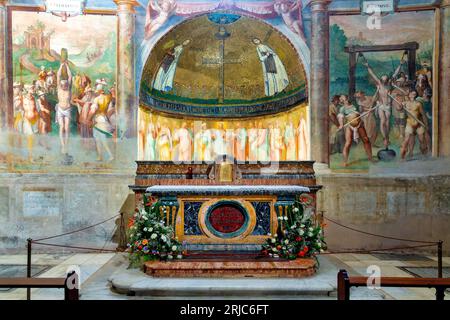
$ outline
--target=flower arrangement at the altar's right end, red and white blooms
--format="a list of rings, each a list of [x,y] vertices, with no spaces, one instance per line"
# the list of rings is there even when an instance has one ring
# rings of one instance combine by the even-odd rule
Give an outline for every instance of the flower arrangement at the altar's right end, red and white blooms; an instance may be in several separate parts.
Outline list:
[[[315,225],[300,201],[288,206],[287,214],[279,216],[278,221],[277,234],[269,234],[262,247],[263,255],[294,260],[315,257],[326,249],[323,225]]]

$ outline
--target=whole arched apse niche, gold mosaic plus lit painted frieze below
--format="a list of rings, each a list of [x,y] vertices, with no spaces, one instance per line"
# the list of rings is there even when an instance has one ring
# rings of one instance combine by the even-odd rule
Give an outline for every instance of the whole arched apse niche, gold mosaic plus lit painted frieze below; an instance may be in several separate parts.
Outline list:
[[[153,41],[139,86],[140,160],[209,160],[195,150],[189,156],[172,150],[186,148],[180,138],[186,130],[193,149],[200,131],[211,131],[213,142],[223,135],[224,149],[214,152],[239,160],[309,159],[309,64],[284,33],[253,17],[214,12]],[[238,131],[245,132],[245,155],[228,146]],[[162,132],[170,141],[158,140]],[[252,145],[255,132],[263,135],[262,150]]]

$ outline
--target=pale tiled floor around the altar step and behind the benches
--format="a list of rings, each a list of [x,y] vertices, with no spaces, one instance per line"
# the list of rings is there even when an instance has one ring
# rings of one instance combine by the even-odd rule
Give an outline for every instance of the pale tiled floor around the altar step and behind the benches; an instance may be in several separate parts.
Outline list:
[[[325,255],[320,259],[324,262],[319,271],[317,281],[323,281],[326,274],[327,279],[334,281],[334,274],[339,269],[346,269],[350,275],[368,275],[369,266],[379,266],[382,276],[413,277],[411,273],[399,267],[436,267],[437,258],[433,256],[401,256],[401,255],[371,255],[371,254],[340,254]],[[393,260],[389,260],[393,259]],[[32,262],[38,266],[49,266],[39,277],[63,277],[70,266],[78,266],[81,270],[81,299],[131,299],[125,295],[114,293],[110,290],[108,279],[114,273],[121,272],[127,268],[127,258],[123,254],[35,254]],[[443,258],[444,267],[450,267],[450,257]],[[0,270],[4,266],[26,265],[25,255],[0,255]],[[21,270],[24,270],[21,267]],[[331,275],[331,277],[330,277]],[[23,275],[25,276],[25,275]],[[260,280],[263,285],[263,279]],[[335,283],[333,283],[335,287]],[[433,300],[434,289],[415,288],[383,288],[382,290],[369,290],[367,288],[353,288],[352,299],[398,299],[398,300]],[[26,290],[14,289],[0,291],[0,300],[21,300],[26,298]],[[60,289],[33,289],[32,299],[61,300],[63,291]],[[190,298],[190,297],[178,297]],[[216,298],[216,297],[215,297]],[[228,297],[232,298],[232,297]],[[241,297],[239,299],[251,299],[258,297]],[[280,298],[267,297],[264,298]],[[335,292],[330,296],[303,296],[303,299],[336,299]],[[450,299],[450,293],[447,294]],[[156,297],[133,297],[133,299],[161,299]],[[298,297],[286,297],[283,299],[298,299]]]

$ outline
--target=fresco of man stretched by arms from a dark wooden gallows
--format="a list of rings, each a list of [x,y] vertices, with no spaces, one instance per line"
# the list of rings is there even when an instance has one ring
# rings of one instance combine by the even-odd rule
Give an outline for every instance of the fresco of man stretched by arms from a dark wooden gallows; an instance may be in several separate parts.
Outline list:
[[[365,16],[331,17],[332,169],[431,157],[433,20],[433,12],[395,13],[383,17],[383,30],[369,30]],[[386,47],[378,50],[380,45]]]

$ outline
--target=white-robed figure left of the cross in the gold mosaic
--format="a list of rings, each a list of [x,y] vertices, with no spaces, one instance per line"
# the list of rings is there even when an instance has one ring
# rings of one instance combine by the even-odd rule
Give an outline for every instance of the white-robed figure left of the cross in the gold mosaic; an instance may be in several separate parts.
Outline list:
[[[154,89],[162,92],[172,90],[178,60],[180,59],[180,55],[183,52],[184,47],[186,47],[190,42],[191,40],[187,39],[183,41],[182,44],[172,48],[166,53],[161,62],[158,73],[156,74],[155,80],[153,81]]]

